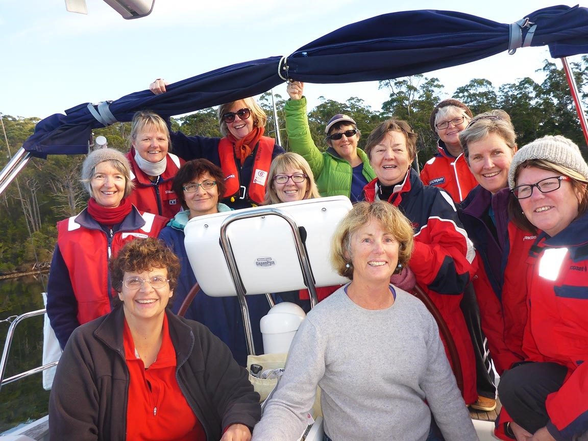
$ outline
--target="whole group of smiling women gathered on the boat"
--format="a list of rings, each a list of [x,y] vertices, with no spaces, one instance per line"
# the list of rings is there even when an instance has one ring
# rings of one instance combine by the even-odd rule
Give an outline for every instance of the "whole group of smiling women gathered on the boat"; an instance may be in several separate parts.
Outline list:
[[[157,80],[151,90],[165,87]],[[333,236],[333,266],[352,281],[303,322],[253,439],[298,439],[317,386],[325,440],[477,439],[465,405],[485,406],[485,396],[468,296],[502,377],[497,435],[580,439],[588,413],[588,165],[577,146],[552,136],[517,152],[505,112],[474,117],[450,99],[433,110],[439,153],[419,176],[406,122],[381,123],[362,151],[355,121],[340,113],[320,152],[303,84],[290,82],[288,93],[289,153],[263,136],[265,114],[246,98],[219,107],[224,138],[169,132],[159,116],[139,112],[126,158],[112,149],[88,155],[82,182],[91,199],[58,225],[48,286],[49,318],[65,348],[51,395],[53,433],[250,439],[260,415],[239,368],[246,345],[236,298],[199,293],[185,319],[173,314],[196,282],[183,230],[195,216],[345,195],[367,201]],[[166,246],[146,239],[158,236]],[[415,284],[445,319],[459,366],[450,366],[435,320],[407,293]],[[259,319],[269,305],[261,296],[248,303],[261,348]],[[452,367],[463,373],[462,390]],[[377,372],[369,382],[366,369]],[[72,371],[76,392],[68,389]]]

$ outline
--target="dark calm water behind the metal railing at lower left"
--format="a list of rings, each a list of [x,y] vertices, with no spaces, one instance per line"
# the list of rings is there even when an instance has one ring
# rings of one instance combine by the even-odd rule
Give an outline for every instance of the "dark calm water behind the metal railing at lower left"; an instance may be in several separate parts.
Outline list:
[[[0,320],[42,309],[43,290],[41,279],[34,276],[0,280]],[[0,350],[4,349],[8,327],[9,323],[0,323]],[[21,322],[12,340],[5,377],[40,366],[42,343],[43,316]],[[46,415],[48,400],[49,392],[43,389],[41,374],[3,386],[0,390],[0,434]]]

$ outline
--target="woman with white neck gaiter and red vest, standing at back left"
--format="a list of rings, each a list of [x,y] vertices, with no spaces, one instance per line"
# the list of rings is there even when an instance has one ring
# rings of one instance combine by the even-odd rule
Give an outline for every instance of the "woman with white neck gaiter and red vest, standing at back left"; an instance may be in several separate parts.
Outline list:
[[[129,143],[131,150],[125,156],[134,186],[131,203],[141,211],[173,218],[182,209],[172,189],[173,178],[185,161],[169,153],[168,125],[155,113],[136,112]]]

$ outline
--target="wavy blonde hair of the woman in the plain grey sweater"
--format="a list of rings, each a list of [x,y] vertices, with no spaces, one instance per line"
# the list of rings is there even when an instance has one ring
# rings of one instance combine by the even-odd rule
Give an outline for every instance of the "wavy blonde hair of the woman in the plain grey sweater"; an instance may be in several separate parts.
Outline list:
[[[384,201],[358,202],[337,226],[331,240],[330,261],[340,276],[353,279],[351,239],[360,228],[377,220],[383,230],[399,242],[398,263],[407,266],[414,247],[410,221],[392,204]],[[349,266],[348,266],[349,265]]]

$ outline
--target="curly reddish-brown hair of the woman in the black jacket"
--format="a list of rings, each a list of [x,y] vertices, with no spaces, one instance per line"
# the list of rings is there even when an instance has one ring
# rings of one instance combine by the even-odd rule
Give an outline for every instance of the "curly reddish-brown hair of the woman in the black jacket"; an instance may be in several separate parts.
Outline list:
[[[153,268],[167,269],[169,289],[173,290],[176,287],[180,273],[178,256],[158,238],[133,239],[108,262],[112,288],[116,292],[122,291],[122,280],[127,272],[139,273]],[[171,306],[172,299],[168,307]]]

